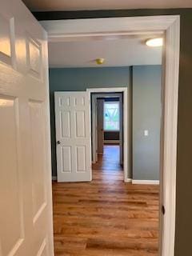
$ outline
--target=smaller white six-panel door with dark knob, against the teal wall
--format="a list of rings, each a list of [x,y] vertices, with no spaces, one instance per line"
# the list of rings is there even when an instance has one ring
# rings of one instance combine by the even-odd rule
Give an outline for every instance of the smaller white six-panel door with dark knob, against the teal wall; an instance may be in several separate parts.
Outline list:
[[[87,92],[55,92],[58,182],[90,182],[90,102]]]

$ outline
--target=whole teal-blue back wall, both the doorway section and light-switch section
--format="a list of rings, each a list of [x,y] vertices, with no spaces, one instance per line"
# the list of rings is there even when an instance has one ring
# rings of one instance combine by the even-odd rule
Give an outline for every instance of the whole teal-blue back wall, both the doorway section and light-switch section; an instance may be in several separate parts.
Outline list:
[[[110,68],[50,69],[50,112],[52,171],[57,174],[54,91],[86,90],[91,87],[130,86],[133,97],[133,156],[131,174],[134,179],[158,180],[161,109],[161,66]],[[144,137],[144,130],[150,134]],[[133,168],[133,169],[132,169]],[[132,173],[133,171],[133,173]],[[131,178],[131,177],[129,177]]]

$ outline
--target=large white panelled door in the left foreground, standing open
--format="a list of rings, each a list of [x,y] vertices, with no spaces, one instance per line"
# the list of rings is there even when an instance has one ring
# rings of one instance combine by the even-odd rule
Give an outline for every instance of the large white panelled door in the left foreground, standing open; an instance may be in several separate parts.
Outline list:
[[[0,255],[53,256],[46,32],[0,1]]]

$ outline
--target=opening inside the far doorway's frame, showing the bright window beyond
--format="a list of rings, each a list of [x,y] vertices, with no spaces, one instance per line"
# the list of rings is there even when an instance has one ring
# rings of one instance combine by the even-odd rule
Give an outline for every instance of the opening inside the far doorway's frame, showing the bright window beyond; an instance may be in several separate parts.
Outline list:
[[[91,93],[92,172],[123,178],[123,94]]]

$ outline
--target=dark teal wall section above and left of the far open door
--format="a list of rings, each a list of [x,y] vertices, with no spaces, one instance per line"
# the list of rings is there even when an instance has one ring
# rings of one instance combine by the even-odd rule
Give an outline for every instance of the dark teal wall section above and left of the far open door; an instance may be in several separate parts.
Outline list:
[[[50,126],[53,176],[56,176],[57,174],[54,125],[54,91],[86,90],[86,88],[97,87],[126,87],[129,85],[129,67],[50,69]]]

